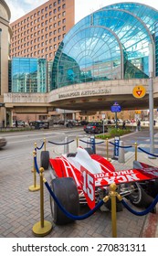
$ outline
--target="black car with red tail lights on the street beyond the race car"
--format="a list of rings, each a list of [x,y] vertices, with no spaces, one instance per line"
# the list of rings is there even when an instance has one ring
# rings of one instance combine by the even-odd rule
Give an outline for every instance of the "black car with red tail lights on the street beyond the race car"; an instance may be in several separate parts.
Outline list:
[[[86,133],[107,133],[108,132],[108,127],[104,125],[104,131],[103,131],[103,124],[100,122],[93,122],[93,123],[88,123],[87,125],[84,126],[84,131]]]

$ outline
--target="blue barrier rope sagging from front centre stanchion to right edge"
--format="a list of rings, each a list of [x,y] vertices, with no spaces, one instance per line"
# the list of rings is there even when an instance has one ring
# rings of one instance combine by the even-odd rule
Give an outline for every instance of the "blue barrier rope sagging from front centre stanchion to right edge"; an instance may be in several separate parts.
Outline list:
[[[151,210],[153,210],[153,208],[155,207],[155,205],[158,202],[158,195],[154,198],[152,204],[146,208],[145,210],[142,211],[136,211],[134,209],[132,209],[123,199],[121,200],[122,205],[127,208],[130,212],[132,212],[132,214],[136,215],[136,216],[143,216],[148,214]]]

